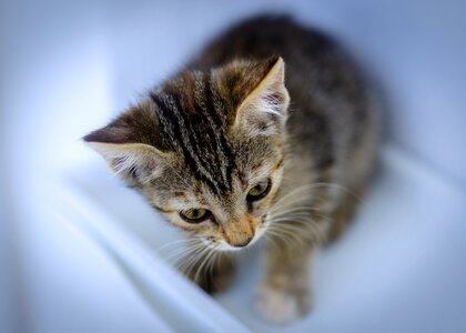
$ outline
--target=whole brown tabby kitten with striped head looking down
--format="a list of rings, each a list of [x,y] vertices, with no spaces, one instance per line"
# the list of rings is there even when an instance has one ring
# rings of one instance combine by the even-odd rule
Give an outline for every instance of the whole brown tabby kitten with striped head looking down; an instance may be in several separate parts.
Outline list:
[[[84,140],[186,231],[204,290],[265,235],[256,307],[284,323],[312,303],[310,265],[367,182],[377,143],[369,91],[330,38],[284,17],[234,27]],[[206,272],[207,266],[210,272]],[[195,272],[195,273],[193,273]]]

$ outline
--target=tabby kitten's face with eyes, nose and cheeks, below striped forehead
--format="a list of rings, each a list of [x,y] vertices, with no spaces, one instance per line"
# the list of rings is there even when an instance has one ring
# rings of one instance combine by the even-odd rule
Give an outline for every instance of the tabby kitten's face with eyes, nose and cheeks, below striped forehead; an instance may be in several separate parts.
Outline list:
[[[239,250],[262,235],[283,174],[281,140],[256,138],[237,142],[233,151],[236,165],[227,190],[215,191],[200,181],[182,160],[160,174],[162,186],[155,181],[142,190],[171,223],[216,250]]]

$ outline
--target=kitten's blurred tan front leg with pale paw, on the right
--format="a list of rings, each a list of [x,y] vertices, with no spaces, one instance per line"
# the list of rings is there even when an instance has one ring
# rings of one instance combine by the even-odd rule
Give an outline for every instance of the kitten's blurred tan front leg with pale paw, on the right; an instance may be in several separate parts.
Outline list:
[[[311,307],[310,265],[314,246],[305,241],[271,242],[265,249],[265,274],[255,306],[265,319],[284,324],[306,314]]]

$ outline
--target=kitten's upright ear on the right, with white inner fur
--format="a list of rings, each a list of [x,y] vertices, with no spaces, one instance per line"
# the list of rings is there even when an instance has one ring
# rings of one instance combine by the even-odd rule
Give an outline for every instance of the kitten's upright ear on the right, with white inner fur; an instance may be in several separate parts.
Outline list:
[[[285,63],[271,58],[260,64],[265,73],[236,111],[235,127],[245,125],[253,134],[270,135],[283,125],[287,117],[290,95],[285,88]]]

